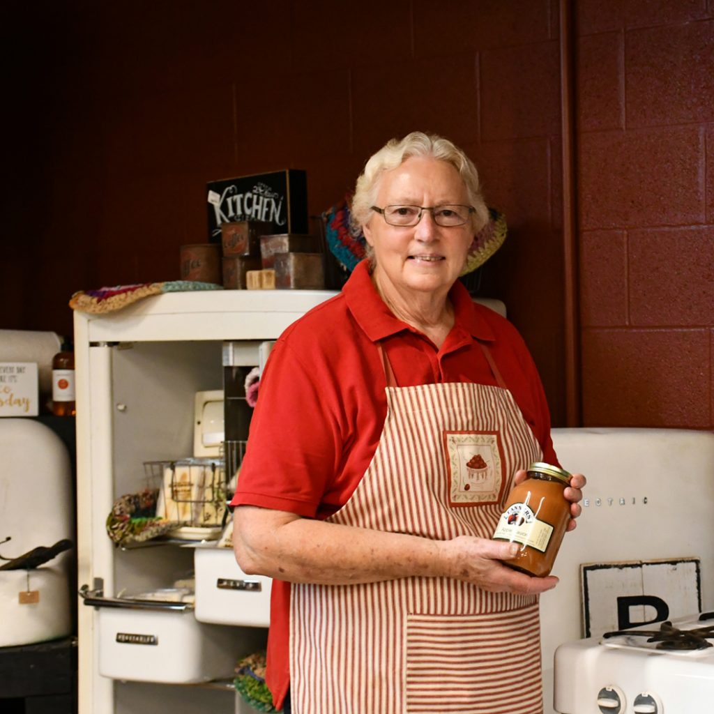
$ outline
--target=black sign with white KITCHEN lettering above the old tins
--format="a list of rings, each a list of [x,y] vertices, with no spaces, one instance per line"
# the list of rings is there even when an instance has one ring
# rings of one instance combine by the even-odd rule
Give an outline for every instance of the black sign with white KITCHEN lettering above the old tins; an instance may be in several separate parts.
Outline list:
[[[308,233],[307,174],[297,169],[208,182],[208,241],[221,223],[263,221],[271,233]]]

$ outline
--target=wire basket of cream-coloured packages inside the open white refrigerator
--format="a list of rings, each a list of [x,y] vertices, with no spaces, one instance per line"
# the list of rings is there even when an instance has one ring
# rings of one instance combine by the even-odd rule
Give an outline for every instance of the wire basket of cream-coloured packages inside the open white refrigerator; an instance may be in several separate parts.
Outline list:
[[[144,472],[159,489],[156,516],[176,526],[216,528],[226,516],[226,468],[223,458],[145,461]]]

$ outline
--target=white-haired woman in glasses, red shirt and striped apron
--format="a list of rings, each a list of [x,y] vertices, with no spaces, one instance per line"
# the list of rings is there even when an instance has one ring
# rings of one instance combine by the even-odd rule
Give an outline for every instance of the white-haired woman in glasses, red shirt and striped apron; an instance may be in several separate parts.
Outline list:
[[[238,563],[276,578],[274,703],[540,713],[538,594],[557,578],[506,567],[517,546],[491,536],[528,464],[558,461],[521,337],[457,280],[488,220],[478,174],[409,134],[367,162],[352,215],[368,259],[273,348],[233,499]]]

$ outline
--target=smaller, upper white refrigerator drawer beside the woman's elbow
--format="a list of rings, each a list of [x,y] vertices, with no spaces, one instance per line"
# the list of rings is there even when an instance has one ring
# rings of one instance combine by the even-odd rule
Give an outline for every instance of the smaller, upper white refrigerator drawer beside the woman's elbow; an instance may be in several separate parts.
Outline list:
[[[271,578],[243,573],[231,548],[196,548],[193,567],[197,620],[268,627]]]

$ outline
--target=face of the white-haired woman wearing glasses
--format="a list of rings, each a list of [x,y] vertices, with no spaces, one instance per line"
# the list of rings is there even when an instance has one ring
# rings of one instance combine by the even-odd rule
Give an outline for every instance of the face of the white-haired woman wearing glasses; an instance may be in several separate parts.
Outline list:
[[[468,205],[466,186],[458,171],[446,161],[412,156],[378,184],[375,206]],[[373,248],[373,276],[383,289],[446,295],[463,269],[473,241],[471,221],[463,226],[437,226],[431,211],[423,211],[416,226],[389,226],[372,212],[363,226]]]

